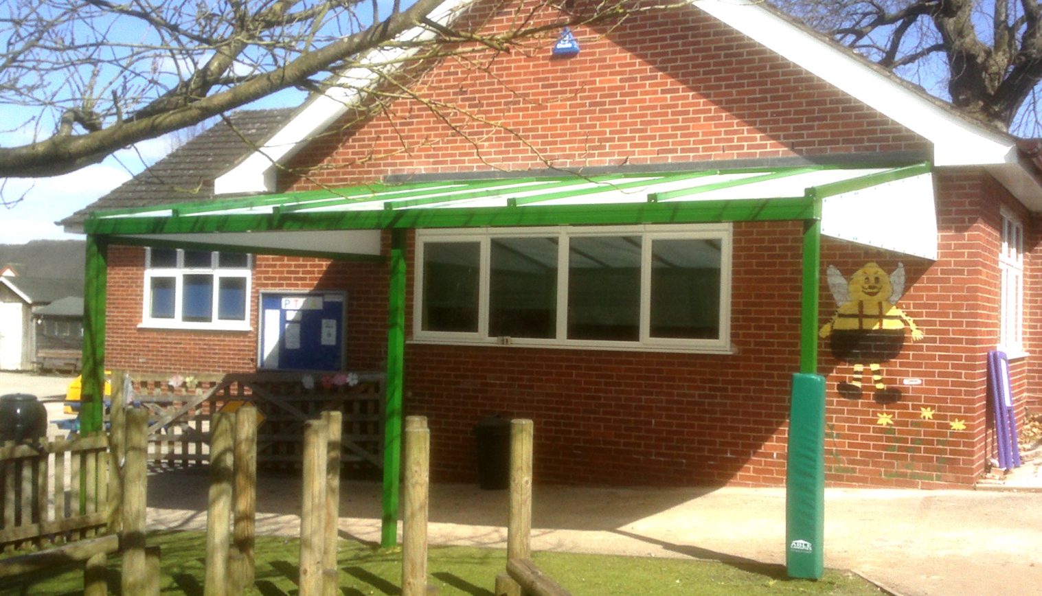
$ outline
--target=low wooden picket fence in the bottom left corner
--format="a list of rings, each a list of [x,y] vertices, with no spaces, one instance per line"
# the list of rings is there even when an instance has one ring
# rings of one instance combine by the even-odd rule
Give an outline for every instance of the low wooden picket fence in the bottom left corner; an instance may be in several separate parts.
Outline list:
[[[148,547],[145,544],[146,451],[148,448],[146,433],[148,413],[141,409],[127,411],[125,415],[121,413],[120,419],[124,421],[123,424],[120,424],[123,430],[120,434],[121,440],[125,441],[123,443],[125,450],[120,449],[116,452],[117,455],[120,452],[124,453],[122,457],[123,464],[122,467],[117,466],[111,468],[111,474],[106,473],[109,470],[109,457],[108,442],[104,436],[82,438],[69,443],[56,441],[40,446],[8,446],[0,451],[3,455],[10,455],[9,458],[0,457],[0,461],[4,463],[6,468],[9,468],[13,464],[21,460],[23,469],[32,468],[36,471],[38,480],[40,476],[43,476],[44,486],[47,483],[46,478],[48,476],[46,473],[41,474],[39,471],[43,469],[46,472],[48,469],[45,457],[55,452],[73,453],[73,463],[70,466],[70,474],[68,475],[68,478],[72,479],[69,481],[69,485],[63,485],[67,478],[64,473],[64,463],[56,464],[50,468],[54,472],[55,513],[57,513],[58,508],[68,511],[69,502],[73,503],[73,505],[78,504],[80,513],[78,516],[67,517],[64,520],[44,520],[41,514],[41,521],[35,523],[35,529],[39,533],[30,537],[30,542],[40,544],[44,543],[44,541],[49,541],[46,545],[50,545],[53,541],[57,540],[80,540],[38,552],[0,560],[0,580],[6,583],[7,580],[26,573],[81,563],[83,564],[84,595],[104,596],[107,593],[105,580],[107,556],[119,552],[122,553],[123,558],[121,576],[122,593],[142,594],[145,596],[158,595],[159,549],[158,547]],[[102,443],[102,447],[96,448],[95,444],[99,442]],[[75,444],[78,444],[79,447],[82,447],[84,444],[91,447],[80,450],[75,448],[63,449]],[[57,445],[57,448],[55,448],[55,445]],[[26,451],[27,449],[38,452],[38,456],[44,463],[33,465],[31,462],[27,462],[30,460],[30,455]],[[79,462],[77,464],[76,457],[86,460],[86,463]],[[114,457],[116,462],[119,462],[119,460],[120,457],[118,456]],[[58,478],[63,479],[59,480]],[[117,480],[114,480],[110,486],[108,480],[111,478],[117,478]],[[26,494],[24,490],[26,486],[31,487],[32,485],[26,482],[23,486],[23,496]],[[64,490],[65,486],[70,487],[70,490]],[[115,489],[109,490],[110,488]],[[6,497],[8,495],[6,483],[4,489]],[[38,498],[43,499],[46,497],[47,492],[36,492],[35,494]],[[100,495],[103,495],[104,498],[99,498]],[[119,506],[110,502],[114,499],[121,501]],[[60,503],[66,504],[57,507],[57,504]],[[73,508],[75,510],[76,507],[74,506]],[[84,513],[86,510],[91,511]],[[109,512],[119,512],[120,519],[118,522],[115,518],[109,519]],[[83,520],[79,518],[86,518],[90,523],[80,525]],[[16,515],[15,519],[18,520],[19,517]],[[63,523],[75,529],[66,529]],[[10,530],[14,532],[14,536],[21,539],[21,537],[26,536],[27,528],[31,526],[32,524],[21,524],[8,528],[5,524],[3,530],[0,531],[6,532]],[[110,532],[106,536],[97,536],[99,532],[104,533],[115,527],[121,529],[118,535]],[[91,533],[91,536],[82,538],[84,533]]]

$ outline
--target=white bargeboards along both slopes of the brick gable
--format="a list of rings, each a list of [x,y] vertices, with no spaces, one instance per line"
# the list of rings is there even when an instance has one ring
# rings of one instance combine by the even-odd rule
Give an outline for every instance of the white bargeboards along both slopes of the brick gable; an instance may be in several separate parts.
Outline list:
[[[447,24],[474,1],[448,0],[431,14],[430,19]],[[967,118],[925,91],[899,80],[864,56],[809,30],[762,2],[688,1],[929,141],[934,146],[935,166],[984,166],[1025,204],[1042,210],[1042,187],[1034,177],[1034,167],[1021,162],[1013,136]],[[430,35],[421,27],[405,33],[413,39]],[[367,59],[377,63],[387,60],[391,54],[400,57],[406,52],[400,48],[374,50],[372,57]],[[332,85],[324,95],[314,97],[272,135],[268,145],[219,176],[215,182],[216,192],[274,192],[277,169],[272,160],[283,163],[291,158],[316,133],[361,100],[363,92],[357,90],[376,80],[375,69],[366,69],[366,59],[362,61],[362,67],[343,75],[342,79],[350,84]]]

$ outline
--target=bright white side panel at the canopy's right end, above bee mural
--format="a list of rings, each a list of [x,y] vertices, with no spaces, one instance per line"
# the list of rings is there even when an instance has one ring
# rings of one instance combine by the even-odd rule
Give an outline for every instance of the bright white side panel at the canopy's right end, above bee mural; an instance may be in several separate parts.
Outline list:
[[[825,197],[821,233],[937,260],[933,175]]]

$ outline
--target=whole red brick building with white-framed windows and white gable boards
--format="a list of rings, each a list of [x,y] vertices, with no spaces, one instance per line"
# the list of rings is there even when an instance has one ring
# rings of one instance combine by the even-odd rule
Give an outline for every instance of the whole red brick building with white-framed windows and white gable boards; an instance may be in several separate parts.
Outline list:
[[[487,6],[467,22],[481,31],[510,27],[513,6]],[[653,175],[656,184],[673,184],[656,192],[699,188],[721,201],[787,200],[790,190],[805,197],[812,188],[827,196],[829,184],[869,180],[824,204],[816,328],[858,301],[841,296],[837,303],[834,295],[874,263],[891,288],[903,285],[886,303],[923,337],[914,341],[907,320],[888,323],[891,330],[899,325],[892,336],[903,346],[871,363],[841,359],[835,338],[819,340],[826,480],[971,486],[993,452],[988,351],[1010,354],[1021,412],[1039,398],[1033,362],[1042,304],[1034,280],[1042,185],[1015,140],[763,5],[696,1],[574,33],[580,51],[568,58],[551,55],[554,31],[524,50],[425,64],[410,73],[415,97],[379,109],[371,98],[330,100],[330,92],[274,115],[256,130],[262,150],[238,162],[225,154],[220,171],[200,174],[205,183],[216,178],[213,208],[241,214],[220,195],[259,193],[289,202],[324,197],[334,210],[344,189],[350,195],[365,184],[429,201],[431,189],[451,192],[438,185],[451,183],[470,193],[457,199],[479,208],[488,197],[518,192],[496,185],[505,179],[549,193],[575,174],[609,185]],[[677,181],[680,173],[691,177]],[[147,199],[141,192],[118,191],[92,208],[188,217],[150,210],[184,200],[173,189]],[[269,204],[254,201],[254,210]],[[264,213],[271,221],[277,215]],[[422,217],[405,234],[403,405],[429,419],[436,479],[474,478],[472,427],[500,414],[536,421],[542,481],[785,481],[791,377],[800,368],[801,218],[435,228]],[[111,233],[107,367],[185,374],[322,368],[287,365],[295,348],[286,342],[299,346],[300,338],[268,340],[264,331],[266,314],[279,308],[266,306],[263,294],[306,292],[346,304],[340,323],[315,331],[317,346],[327,345],[319,338],[325,332],[343,340],[330,356],[340,361],[325,368],[383,370],[389,229],[365,230],[356,241],[368,248],[355,252],[383,259],[316,257],[352,252],[329,230],[299,232],[313,234],[303,244],[297,235],[251,244],[237,232],[254,255],[225,264],[224,253],[191,250],[224,240],[155,225],[155,233]],[[155,242],[160,227],[168,244]],[[152,252],[127,242],[151,244]],[[684,265],[663,265],[677,259]],[[835,289],[829,266],[843,276]],[[209,309],[190,313],[197,309],[192,296],[207,291]],[[880,325],[884,316],[880,309]],[[267,321],[282,332],[291,323],[284,313]],[[842,323],[833,326],[836,333]],[[266,361],[272,350],[281,350],[273,367]],[[859,363],[860,393],[851,389]],[[885,387],[874,387],[872,365]]]

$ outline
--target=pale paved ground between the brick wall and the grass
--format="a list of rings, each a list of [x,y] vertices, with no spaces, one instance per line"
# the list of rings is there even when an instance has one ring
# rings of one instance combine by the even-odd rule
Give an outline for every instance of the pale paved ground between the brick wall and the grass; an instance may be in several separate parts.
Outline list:
[[[69,380],[0,373],[0,394],[59,395]],[[988,490],[827,489],[825,566],[894,594],[1042,594],[1039,469],[1026,462]],[[151,474],[150,527],[204,529],[207,486],[204,468]],[[506,491],[432,485],[430,543],[505,548],[506,499]],[[378,482],[345,481],[341,535],[378,542],[379,502]],[[257,512],[258,533],[298,535],[299,476],[262,474]],[[784,566],[785,490],[537,485],[532,548]]]

